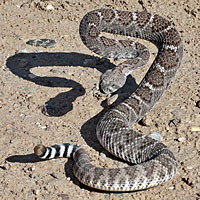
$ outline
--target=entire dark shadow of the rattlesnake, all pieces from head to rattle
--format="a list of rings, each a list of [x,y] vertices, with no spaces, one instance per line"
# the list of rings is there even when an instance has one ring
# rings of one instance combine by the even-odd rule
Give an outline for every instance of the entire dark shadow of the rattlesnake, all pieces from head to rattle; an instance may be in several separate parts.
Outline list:
[[[85,62],[86,60],[91,60],[93,62]],[[45,86],[45,87],[62,87],[62,88],[71,88],[70,91],[62,92],[55,97],[49,99],[44,103],[45,111],[48,116],[51,117],[59,117],[65,115],[67,112],[73,109],[72,103],[73,101],[85,94],[85,89],[80,83],[77,83],[74,80],[61,78],[61,77],[41,77],[31,73],[31,69],[35,67],[48,67],[48,66],[82,66],[86,68],[96,68],[101,73],[104,73],[108,68],[104,65],[98,64],[95,62],[97,57],[71,52],[55,52],[55,53],[19,53],[14,56],[11,56],[7,59],[6,67],[16,76],[33,82],[37,85]],[[111,66],[114,66],[111,64]],[[127,77],[126,84],[123,88],[121,88],[116,93],[124,93],[124,97],[128,97],[132,94],[136,88],[137,84],[135,79],[132,76]],[[114,105],[119,104],[122,99],[118,98]],[[105,102],[102,102],[103,110],[98,113],[96,116],[92,117],[88,121],[86,121],[81,127],[81,136],[86,141],[86,143],[95,149],[96,151],[103,152],[107,157],[117,159],[111,154],[109,154],[106,150],[104,150],[99,144],[96,137],[96,125],[102,115],[108,110],[107,107],[104,106]],[[19,163],[35,163],[35,162],[45,162],[46,160],[41,160],[34,154],[27,155],[12,155],[6,158],[8,162],[19,162]],[[68,160],[65,164],[65,173],[67,177],[70,177],[74,184],[79,185],[81,188],[94,191],[95,189],[89,188],[81,184],[73,175],[72,172],[72,160]],[[99,190],[97,190],[100,192]]]

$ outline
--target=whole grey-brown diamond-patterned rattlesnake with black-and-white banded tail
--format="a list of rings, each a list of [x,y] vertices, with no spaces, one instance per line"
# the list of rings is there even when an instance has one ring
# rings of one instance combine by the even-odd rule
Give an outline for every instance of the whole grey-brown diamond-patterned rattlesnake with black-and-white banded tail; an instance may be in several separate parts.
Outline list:
[[[80,23],[83,43],[105,57],[128,58],[107,70],[100,89],[112,93],[120,88],[133,69],[143,66],[149,51],[130,40],[108,39],[102,32],[148,40],[158,54],[136,91],[119,105],[108,110],[97,124],[100,144],[111,154],[132,165],[105,169],[93,166],[87,152],[72,144],[45,147],[34,152],[42,159],[68,157],[74,160],[74,174],[90,187],[108,191],[132,191],[150,188],[170,180],[177,172],[173,153],[162,143],[132,130],[167,89],[183,56],[183,44],[174,24],[157,14],[99,9],[89,12]]]

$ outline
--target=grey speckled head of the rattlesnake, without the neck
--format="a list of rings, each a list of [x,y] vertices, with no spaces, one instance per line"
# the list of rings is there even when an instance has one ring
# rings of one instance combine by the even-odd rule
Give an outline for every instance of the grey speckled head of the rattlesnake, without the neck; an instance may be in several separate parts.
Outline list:
[[[99,89],[104,94],[111,94],[123,87],[126,76],[119,70],[109,69],[100,77]]]

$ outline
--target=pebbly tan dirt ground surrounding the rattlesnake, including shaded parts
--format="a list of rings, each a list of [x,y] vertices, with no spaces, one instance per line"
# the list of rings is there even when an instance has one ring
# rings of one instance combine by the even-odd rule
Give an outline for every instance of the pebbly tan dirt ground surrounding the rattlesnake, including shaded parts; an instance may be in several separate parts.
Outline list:
[[[32,155],[38,143],[71,142],[84,146],[97,166],[124,166],[96,139],[105,100],[96,86],[106,68],[79,37],[82,17],[100,7],[157,13],[176,24],[184,42],[183,62],[171,86],[148,113],[147,125],[135,126],[145,134],[162,135],[177,158],[179,173],[145,191],[99,192],[77,181],[72,160],[42,162]],[[199,8],[199,0],[1,0],[0,199],[200,199]],[[55,47],[26,44],[41,38],[55,40]],[[148,66],[155,48],[150,50]],[[137,83],[147,69],[133,73]],[[128,91],[133,91],[134,78],[128,78]]]

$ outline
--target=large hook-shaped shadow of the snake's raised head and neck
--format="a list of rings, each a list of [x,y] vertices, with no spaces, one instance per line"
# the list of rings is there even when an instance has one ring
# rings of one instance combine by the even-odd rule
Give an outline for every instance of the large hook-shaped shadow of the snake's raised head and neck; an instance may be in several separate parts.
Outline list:
[[[87,60],[90,60],[90,62],[86,62]],[[16,76],[37,85],[71,88],[70,91],[59,93],[57,96],[44,103],[44,109],[48,116],[59,117],[73,109],[72,102],[75,101],[77,97],[84,95],[85,89],[80,83],[74,80],[56,76],[37,76],[31,73],[31,69],[49,66],[82,66],[86,68],[96,68],[102,73],[106,71],[104,67],[96,64],[96,60],[97,57],[75,52],[19,53],[7,59],[6,67]]]

